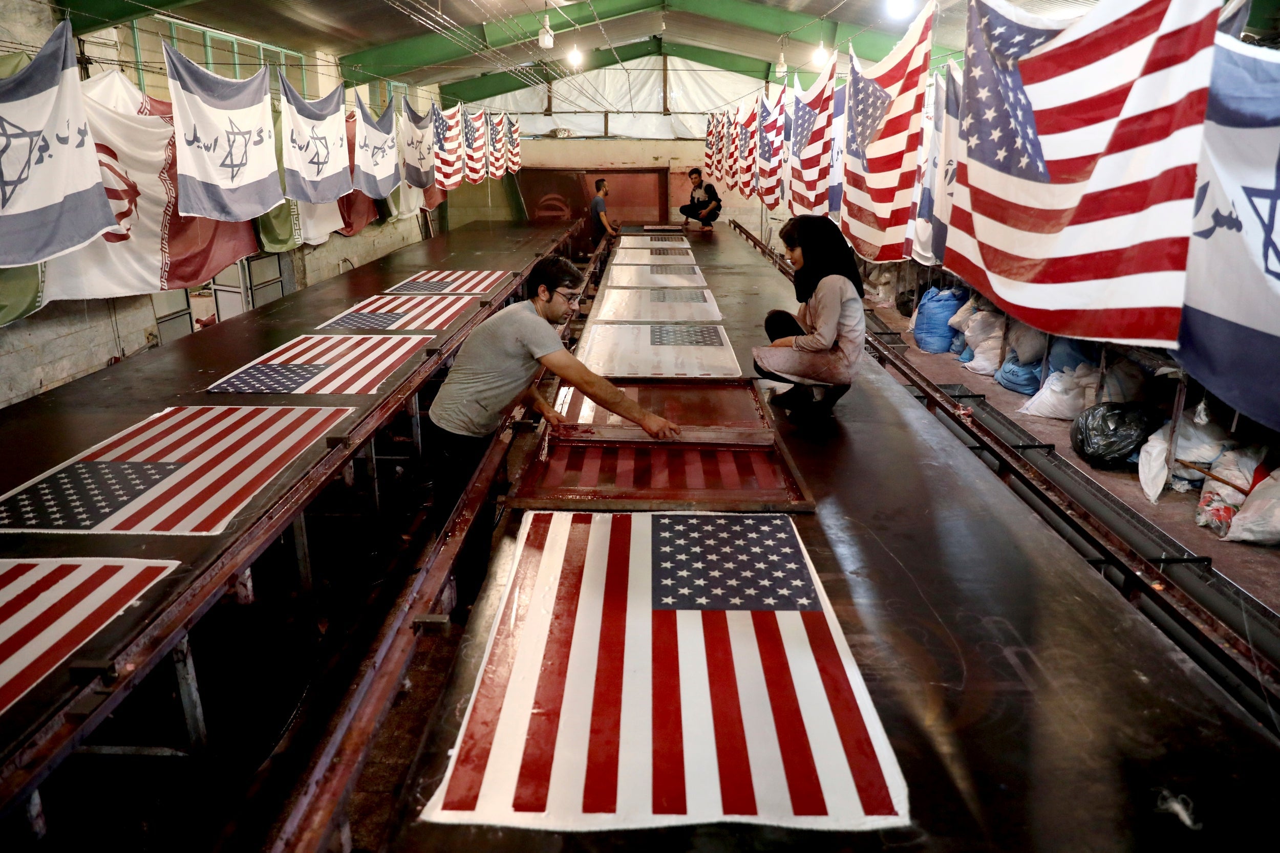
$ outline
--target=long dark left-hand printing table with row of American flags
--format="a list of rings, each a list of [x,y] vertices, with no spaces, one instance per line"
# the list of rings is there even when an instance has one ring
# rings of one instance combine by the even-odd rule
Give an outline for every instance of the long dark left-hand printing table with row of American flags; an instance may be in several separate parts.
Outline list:
[[[0,412],[0,445],[6,449],[0,457],[0,495],[20,490],[10,495],[8,504],[0,501],[0,512],[14,518],[8,526],[0,518],[4,529],[0,569],[13,569],[0,574],[0,615],[6,613],[5,607],[17,610],[40,595],[52,595],[58,578],[68,570],[114,570],[120,578],[128,575],[123,586],[111,587],[114,597],[106,596],[99,605],[96,622],[77,623],[76,602],[68,604],[60,616],[46,611],[44,630],[56,633],[67,627],[69,633],[51,637],[42,659],[10,661],[28,674],[27,680],[33,685],[22,688],[22,693],[13,688],[15,697],[0,701],[0,808],[29,795],[163,656],[184,641],[186,632],[234,586],[237,577],[376,430],[406,407],[416,417],[416,394],[426,379],[471,327],[502,306],[536,257],[561,249],[577,226],[576,223],[545,228],[474,224]],[[431,276],[416,276],[424,270],[506,270],[512,275],[438,288],[430,281],[421,283]],[[383,295],[410,278],[417,278],[420,284],[406,285],[393,297]],[[484,292],[477,293],[481,288]],[[424,299],[445,309],[419,309]],[[339,320],[334,322],[335,318]],[[316,377],[323,368],[305,363],[293,366],[293,372],[275,371],[269,380],[239,370],[255,359],[279,361],[278,353],[264,357],[302,335],[328,334],[415,340],[402,347],[398,356],[402,361],[381,377],[372,393],[367,382],[356,387],[337,376]],[[353,361],[352,373],[360,370],[361,362]],[[228,380],[232,373],[236,376]],[[311,379],[332,381],[311,386],[325,393],[306,393]],[[224,380],[223,393],[206,391]],[[260,393],[262,382],[273,390],[293,385],[303,393]],[[333,390],[365,393],[328,393]],[[168,421],[152,421],[155,435],[150,439],[108,442],[174,407],[191,408],[170,412]],[[225,417],[204,407],[239,408]],[[215,513],[196,518],[169,509],[148,518],[141,518],[145,515],[141,510],[108,517],[105,510],[95,514],[81,505],[81,499],[110,500],[111,495],[104,495],[104,490],[114,491],[119,501],[127,500],[131,490],[132,496],[141,494],[168,474],[168,469],[155,471],[157,460],[161,467],[179,467],[182,463],[173,460],[182,449],[175,449],[177,441],[168,436],[184,428],[196,444],[201,434],[224,435],[228,453],[238,453],[232,445],[239,448],[274,428],[266,421],[253,419],[270,419],[275,414],[262,407],[306,407],[320,412],[298,416],[310,421],[300,419],[301,426],[289,436],[293,445],[274,460],[197,460],[229,466],[227,476],[241,477],[232,483],[236,491],[223,501],[220,517]],[[191,421],[183,427],[183,417],[211,419]],[[243,440],[225,430],[219,434],[225,423],[218,418],[242,418]],[[108,444],[95,449],[100,442]],[[73,459],[79,459],[79,464],[63,468],[47,482],[44,480],[47,472]],[[188,487],[209,489],[204,482]],[[47,499],[41,501],[41,497]],[[186,495],[179,497],[186,500]],[[132,504],[128,509],[132,510]],[[14,529],[23,523],[50,532]],[[77,527],[86,529],[60,532]],[[150,532],[138,532],[142,529]],[[90,558],[104,560],[86,563]],[[82,568],[69,569],[82,563]],[[102,568],[106,564],[123,568]],[[13,578],[29,581],[32,572],[46,572],[47,577],[27,587],[24,597],[4,597],[4,584]],[[133,597],[136,602],[129,606]],[[123,613],[115,615],[120,609]],[[96,633],[84,628],[91,622],[101,625]],[[81,634],[76,634],[76,624],[81,625]],[[24,628],[28,633],[36,629]],[[3,638],[0,643],[12,639]]]

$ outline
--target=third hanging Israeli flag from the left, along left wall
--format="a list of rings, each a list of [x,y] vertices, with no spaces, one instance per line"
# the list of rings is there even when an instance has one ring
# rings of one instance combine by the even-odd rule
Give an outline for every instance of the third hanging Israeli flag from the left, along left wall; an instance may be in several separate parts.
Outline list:
[[[351,192],[347,164],[347,116],[342,86],[319,101],[298,95],[280,75],[280,133],[284,136],[284,196],[311,205],[338,201]]]

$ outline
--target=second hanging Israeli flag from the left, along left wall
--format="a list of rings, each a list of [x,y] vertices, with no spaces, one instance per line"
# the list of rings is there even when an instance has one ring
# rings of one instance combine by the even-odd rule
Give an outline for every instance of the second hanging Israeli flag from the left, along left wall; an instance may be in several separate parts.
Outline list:
[[[168,42],[164,64],[178,134],[178,212],[243,223],[283,203],[266,69],[228,79]]]

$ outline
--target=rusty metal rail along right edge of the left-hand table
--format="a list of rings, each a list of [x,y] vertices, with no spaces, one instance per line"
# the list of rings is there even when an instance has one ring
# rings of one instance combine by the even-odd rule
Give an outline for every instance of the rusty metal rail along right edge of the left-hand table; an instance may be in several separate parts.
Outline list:
[[[550,247],[557,252],[581,228],[581,220],[571,225]],[[490,298],[490,306],[499,306],[520,286],[536,258],[512,276]],[[110,674],[93,678],[0,765],[0,815],[24,803],[40,783],[84,738],[106,720],[120,702],[133,692],[142,679],[187,636],[192,627],[209,611],[224,592],[234,592],[237,579],[262,551],[280,536],[316,494],[351,460],[393,416],[411,403],[430,376],[449,358],[466,335],[483,322],[495,308],[479,311],[430,358],[346,435],[330,436],[330,449],[310,471],[255,520],[239,538],[160,613],[125,648],[114,657]]]

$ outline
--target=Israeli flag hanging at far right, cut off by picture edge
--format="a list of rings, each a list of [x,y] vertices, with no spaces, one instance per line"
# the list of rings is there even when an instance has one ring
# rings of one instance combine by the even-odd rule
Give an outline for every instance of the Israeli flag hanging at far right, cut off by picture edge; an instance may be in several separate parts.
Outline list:
[[[1219,32],[1178,361],[1280,430],[1280,52]]]

